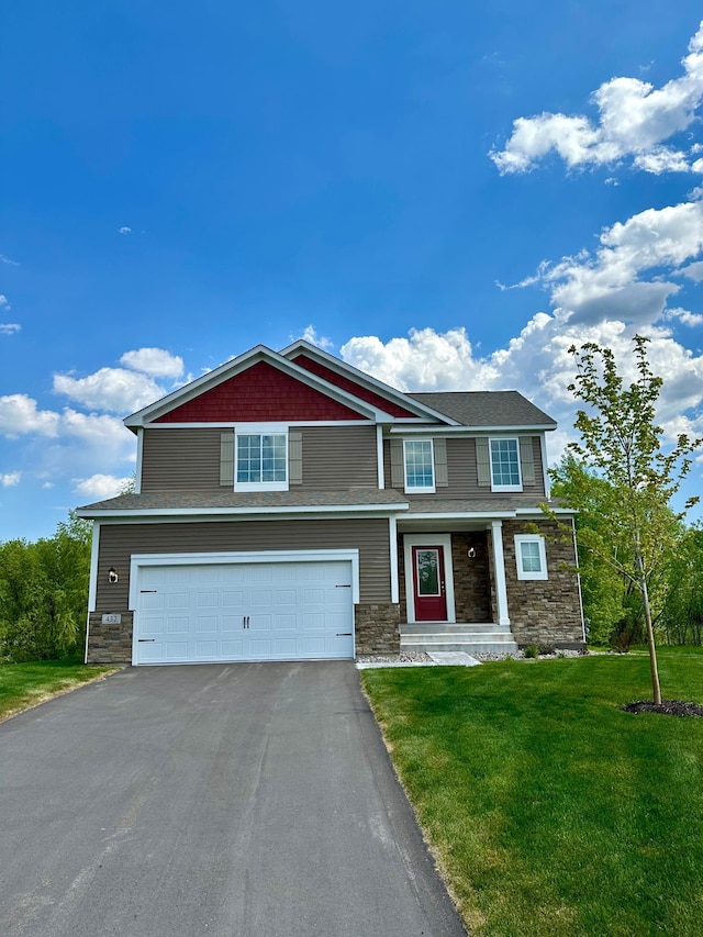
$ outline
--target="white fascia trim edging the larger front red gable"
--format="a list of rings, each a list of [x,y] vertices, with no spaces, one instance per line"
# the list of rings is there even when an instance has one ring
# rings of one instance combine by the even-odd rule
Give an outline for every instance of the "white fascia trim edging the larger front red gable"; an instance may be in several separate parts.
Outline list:
[[[168,411],[175,406],[180,406],[191,400],[194,400],[194,398],[200,397],[201,393],[216,387],[224,380],[235,377],[258,361],[266,361],[271,367],[294,377],[308,387],[319,390],[321,393],[336,400],[338,403],[349,406],[352,410],[367,414],[369,420],[387,422],[392,419],[390,414],[384,413],[378,408],[372,406],[370,403],[367,403],[354,394],[342,390],[342,388],[336,387],[336,384],[330,383],[323,378],[319,378],[311,371],[306,371],[294,361],[290,361],[288,358],[283,358],[281,355],[278,355],[276,352],[271,352],[271,349],[267,348],[265,345],[257,345],[255,348],[252,348],[249,352],[245,352],[237,358],[226,361],[224,365],[220,365],[219,368],[209,371],[207,375],[202,375],[200,378],[196,378],[194,381],[191,381],[185,387],[167,394],[167,397],[163,397],[160,400],[155,401],[155,403],[145,406],[143,410],[138,410],[136,413],[127,416],[124,420],[124,424],[130,428],[134,426],[143,426],[145,423],[158,419],[161,413],[168,413]]]

